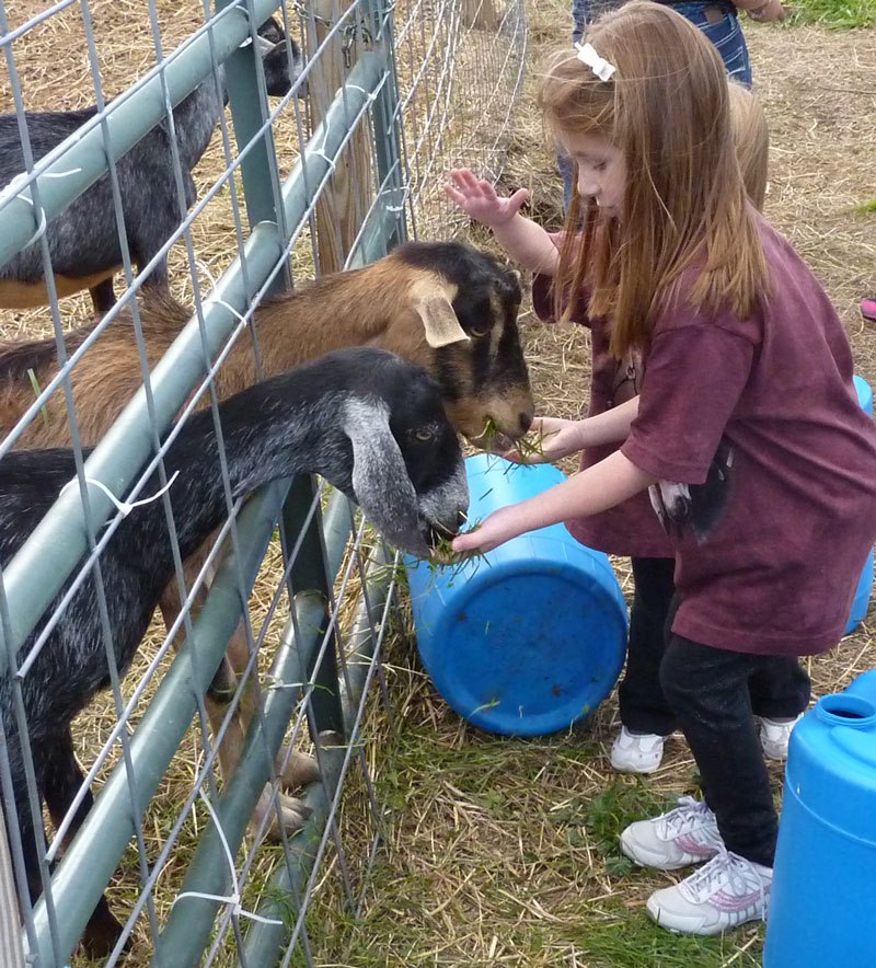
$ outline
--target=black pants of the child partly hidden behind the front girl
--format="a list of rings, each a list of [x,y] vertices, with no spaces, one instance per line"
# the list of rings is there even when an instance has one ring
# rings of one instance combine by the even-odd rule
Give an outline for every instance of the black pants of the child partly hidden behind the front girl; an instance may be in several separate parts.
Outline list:
[[[676,586],[672,558],[633,558],[635,594],[630,609],[626,671],[618,687],[621,722],[634,733],[668,736],[683,724],[660,685],[660,664],[670,636]],[[734,653],[734,655],[736,655]],[[809,703],[809,677],[794,658],[752,668],[751,711],[770,719],[793,718]]]

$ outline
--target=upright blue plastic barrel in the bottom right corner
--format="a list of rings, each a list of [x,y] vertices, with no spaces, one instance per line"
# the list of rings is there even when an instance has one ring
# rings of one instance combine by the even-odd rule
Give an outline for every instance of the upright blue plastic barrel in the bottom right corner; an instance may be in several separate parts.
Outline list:
[[[862,679],[791,735],[763,968],[876,966],[876,681]]]

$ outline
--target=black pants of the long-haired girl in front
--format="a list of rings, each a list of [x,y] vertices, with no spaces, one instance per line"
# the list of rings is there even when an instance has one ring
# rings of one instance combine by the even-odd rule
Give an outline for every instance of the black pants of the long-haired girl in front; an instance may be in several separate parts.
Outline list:
[[[729,652],[680,635],[669,636],[660,662],[664,694],[696,761],[725,846],[768,867],[779,819],[751,683],[791,681],[795,670],[800,670],[795,658]]]

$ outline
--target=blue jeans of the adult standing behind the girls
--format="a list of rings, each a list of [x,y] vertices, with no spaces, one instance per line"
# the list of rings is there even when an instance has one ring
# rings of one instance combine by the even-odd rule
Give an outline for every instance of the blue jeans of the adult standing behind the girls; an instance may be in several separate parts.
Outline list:
[[[620,7],[619,2],[611,5]],[[689,0],[670,4],[694,26],[699,27],[715,45],[724,60],[727,73],[735,81],[751,87],[751,61],[736,8],[726,0]],[[572,42],[578,43],[585,26],[608,9],[604,0],[572,0]],[[572,200],[572,186],[575,184],[575,165],[563,155],[557,155],[557,165],[563,175],[563,210],[568,211]]]

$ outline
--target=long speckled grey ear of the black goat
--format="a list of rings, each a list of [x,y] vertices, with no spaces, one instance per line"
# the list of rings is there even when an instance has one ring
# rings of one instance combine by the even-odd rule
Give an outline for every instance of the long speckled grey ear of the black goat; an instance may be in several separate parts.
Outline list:
[[[344,410],[344,433],[353,445],[353,489],[366,518],[390,544],[428,556],[419,531],[417,494],[390,430],[389,410],[356,399]]]

